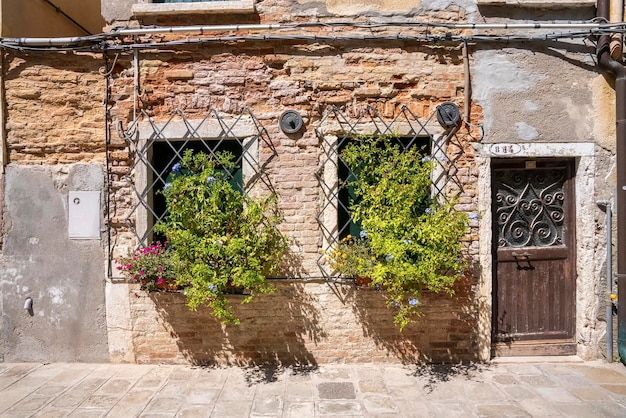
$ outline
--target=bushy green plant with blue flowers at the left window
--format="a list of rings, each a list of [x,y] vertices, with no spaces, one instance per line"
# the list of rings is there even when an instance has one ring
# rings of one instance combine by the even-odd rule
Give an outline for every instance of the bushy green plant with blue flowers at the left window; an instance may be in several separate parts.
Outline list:
[[[230,153],[186,151],[162,191],[168,214],[155,228],[172,247],[189,308],[206,304],[223,323],[239,323],[225,296],[229,289],[249,292],[242,303],[274,291],[267,277],[287,250],[276,195],[252,199],[233,188],[232,161]]]

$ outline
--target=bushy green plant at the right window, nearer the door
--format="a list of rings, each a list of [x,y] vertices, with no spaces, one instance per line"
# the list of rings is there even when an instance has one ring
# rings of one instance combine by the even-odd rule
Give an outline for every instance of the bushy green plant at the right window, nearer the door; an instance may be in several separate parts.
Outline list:
[[[415,147],[403,150],[392,136],[358,138],[341,157],[356,176],[347,186],[354,189],[350,210],[362,232],[336,245],[330,264],[384,289],[403,330],[419,315],[423,290],[453,293],[466,268],[461,250],[468,215],[431,197],[434,162]],[[348,263],[351,254],[358,257]]]

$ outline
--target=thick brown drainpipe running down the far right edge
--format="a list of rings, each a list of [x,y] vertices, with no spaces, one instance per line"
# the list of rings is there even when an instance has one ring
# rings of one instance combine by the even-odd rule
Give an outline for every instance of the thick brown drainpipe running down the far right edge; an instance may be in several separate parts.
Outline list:
[[[609,0],[598,0],[598,18],[608,21]],[[617,160],[617,187],[615,204],[617,215],[617,351],[626,364],[626,68],[611,58],[610,36],[598,40],[598,64],[615,77],[615,158]]]

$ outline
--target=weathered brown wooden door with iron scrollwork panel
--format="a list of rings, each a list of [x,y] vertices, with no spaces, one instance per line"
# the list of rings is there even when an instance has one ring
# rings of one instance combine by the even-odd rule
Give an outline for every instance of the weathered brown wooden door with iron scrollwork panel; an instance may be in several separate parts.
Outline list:
[[[573,161],[492,167],[492,354],[575,354]]]

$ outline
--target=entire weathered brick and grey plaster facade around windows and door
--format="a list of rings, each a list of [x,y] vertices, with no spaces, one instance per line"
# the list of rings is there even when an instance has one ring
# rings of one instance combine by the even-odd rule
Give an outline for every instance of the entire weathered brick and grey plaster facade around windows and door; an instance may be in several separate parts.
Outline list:
[[[103,5],[107,3],[111,2]],[[458,6],[434,3],[431,9],[411,2],[407,12],[399,10],[398,2],[380,1],[357,16],[356,2],[264,0],[256,2],[254,15],[206,16],[197,23],[332,21],[343,15],[402,20],[418,9],[422,20],[482,19],[471,6],[467,6],[469,15]],[[108,23],[114,25],[116,19],[124,23],[130,18],[131,4],[116,2],[119,9],[109,18],[105,14]],[[565,13],[555,19],[585,18],[585,13]],[[533,16],[545,18],[532,13],[529,18]],[[189,21],[170,16],[146,18],[143,23]],[[403,28],[402,34],[411,31]],[[605,244],[604,218],[593,207],[593,198],[610,196],[614,186],[612,133],[605,129],[614,122],[605,118],[610,92],[595,75],[588,48],[576,42],[507,44],[506,48],[470,44],[468,73],[459,43],[357,38],[397,32],[386,27],[318,27],[302,33],[354,35],[354,39],[263,40],[263,33],[256,33],[255,40],[138,49],[138,80],[129,51],[109,51],[106,65],[101,54],[7,53],[0,358],[194,364],[486,360],[492,314],[488,147],[509,141],[540,150],[528,152],[530,158],[565,155],[567,147],[562,143],[576,142],[566,150],[566,156],[577,159],[577,197],[581,198],[577,203],[582,202],[583,215],[577,224],[576,335],[582,357],[599,357],[604,332],[598,308],[603,266],[595,255],[603,253]],[[128,37],[120,43],[232,34],[242,32],[156,34]],[[448,152],[460,152],[455,164],[464,193],[458,209],[480,216],[472,221],[466,240],[472,268],[454,296],[425,294],[424,315],[400,334],[381,292],[319,278],[317,262],[325,241],[317,223],[323,193],[316,172],[324,157],[315,130],[333,106],[350,122],[368,108],[387,121],[404,108],[420,119],[431,117],[445,101],[462,108],[470,93],[465,90],[467,77],[473,87],[469,118],[473,125],[463,125],[456,135],[461,146]],[[254,114],[277,151],[267,175],[280,195],[285,215],[281,228],[291,240],[293,264],[273,281],[277,293],[236,306],[242,319],[239,327],[222,327],[202,309],[189,311],[181,294],[147,294],[115,277],[115,271],[113,277],[107,276],[107,259],[137,245],[126,225],[136,205],[126,180],[135,155],[118,132],[142,111],[163,122],[176,110],[189,119],[202,119],[209,111],[236,117],[243,109]],[[278,118],[285,110],[304,117],[299,134],[280,130]],[[595,119],[595,113],[602,117]],[[478,123],[483,123],[483,131]],[[555,148],[543,146],[549,143]],[[595,151],[589,151],[588,145],[593,149],[594,143]],[[261,147],[260,153],[269,151]],[[30,198],[29,190],[36,190],[39,198]],[[67,195],[74,190],[102,191],[101,240],[73,241],[65,236]],[[107,198],[109,213],[105,213]],[[33,219],[37,223],[27,227]],[[27,296],[35,301],[33,316],[22,315]],[[237,298],[232,296],[232,301]]]

